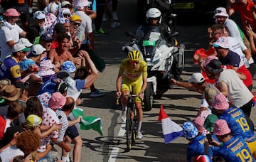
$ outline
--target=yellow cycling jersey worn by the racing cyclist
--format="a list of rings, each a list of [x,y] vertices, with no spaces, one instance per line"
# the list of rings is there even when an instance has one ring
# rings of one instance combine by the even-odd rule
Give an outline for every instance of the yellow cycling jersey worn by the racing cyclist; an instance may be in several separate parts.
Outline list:
[[[131,64],[131,60],[129,60],[129,58],[125,58],[121,62],[119,75],[122,75],[124,79],[131,81],[138,80],[139,77],[147,77],[146,62],[144,60],[139,60],[137,67],[134,68]]]

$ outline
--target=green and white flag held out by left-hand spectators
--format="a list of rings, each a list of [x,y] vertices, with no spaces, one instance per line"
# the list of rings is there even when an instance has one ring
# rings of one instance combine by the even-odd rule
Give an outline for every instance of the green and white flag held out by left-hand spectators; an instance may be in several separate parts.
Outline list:
[[[99,134],[102,134],[102,119],[100,117],[85,117],[83,114],[83,110],[80,108],[75,108],[72,111],[73,117],[75,119],[78,118],[78,116],[82,116],[82,120],[80,122],[80,129],[81,130],[95,130],[99,132]]]

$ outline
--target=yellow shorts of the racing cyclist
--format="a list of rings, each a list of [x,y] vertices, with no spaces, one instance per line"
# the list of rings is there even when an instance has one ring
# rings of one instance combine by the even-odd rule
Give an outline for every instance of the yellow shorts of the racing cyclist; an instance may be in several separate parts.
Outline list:
[[[122,87],[121,90],[128,90],[130,91],[130,87],[132,87],[132,94],[137,95],[142,90],[142,77],[139,77],[138,80],[132,81],[132,80],[122,80]],[[135,102],[142,102],[142,100],[139,97],[135,97]]]

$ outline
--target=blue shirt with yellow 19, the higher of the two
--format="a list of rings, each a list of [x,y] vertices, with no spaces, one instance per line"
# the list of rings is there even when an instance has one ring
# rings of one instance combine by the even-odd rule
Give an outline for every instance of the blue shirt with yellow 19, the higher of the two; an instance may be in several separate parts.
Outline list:
[[[234,136],[242,136],[244,139],[254,136],[242,109],[230,107],[220,116],[220,119],[227,121]]]

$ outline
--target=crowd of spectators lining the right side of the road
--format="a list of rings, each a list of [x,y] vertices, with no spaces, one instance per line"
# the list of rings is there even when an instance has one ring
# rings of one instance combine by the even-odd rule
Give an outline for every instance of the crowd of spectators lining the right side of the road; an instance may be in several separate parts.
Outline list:
[[[238,12],[242,26],[229,17]],[[253,1],[228,1],[215,9],[208,28],[209,49],[197,50],[195,72],[188,82],[171,84],[202,94],[200,111],[183,123],[187,161],[255,161],[255,126],[250,119],[255,98],[256,6]]]

